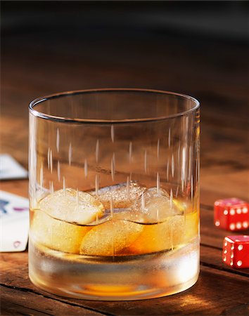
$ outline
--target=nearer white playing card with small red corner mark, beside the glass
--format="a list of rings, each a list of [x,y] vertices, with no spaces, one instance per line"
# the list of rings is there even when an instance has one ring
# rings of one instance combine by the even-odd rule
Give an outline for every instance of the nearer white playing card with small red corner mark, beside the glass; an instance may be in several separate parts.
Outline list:
[[[24,251],[29,232],[29,201],[0,190],[0,251]]]

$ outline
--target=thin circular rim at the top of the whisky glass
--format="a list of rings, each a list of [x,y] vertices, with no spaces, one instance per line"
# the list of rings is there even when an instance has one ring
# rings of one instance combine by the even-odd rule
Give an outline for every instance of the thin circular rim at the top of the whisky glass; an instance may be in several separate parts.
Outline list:
[[[65,96],[75,96],[83,93],[99,93],[99,92],[144,92],[144,93],[158,93],[165,94],[170,96],[178,96],[181,98],[189,99],[193,102],[194,106],[191,109],[182,111],[176,114],[164,115],[160,117],[148,117],[141,119],[82,119],[82,118],[70,118],[70,117],[58,117],[51,114],[46,114],[44,112],[39,112],[34,110],[34,107],[46,100],[51,100],[55,98],[65,97]],[[162,121],[166,119],[172,119],[174,117],[181,117],[191,112],[195,112],[200,107],[200,103],[196,98],[188,96],[183,93],[175,93],[170,91],[163,90],[154,90],[146,88],[95,88],[95,89],[86,89],[86,90],[75,90],[75,91],[64,91],[59,93],[53,93],[49,96],[43,96],[37,99],[32,100],[29,105],[30,113],[35,117],[40,117],[41,119],[49,119],[51,121],[63,122],[63,123],[78,123],[78,124],[124,124],[124,123],[141,123],[141,122],[150,122],[150,121]]]

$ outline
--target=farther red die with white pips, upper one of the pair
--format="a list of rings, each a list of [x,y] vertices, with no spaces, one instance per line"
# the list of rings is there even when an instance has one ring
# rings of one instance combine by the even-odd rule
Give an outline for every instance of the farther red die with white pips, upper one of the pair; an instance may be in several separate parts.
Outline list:
[[[242,199],[219,199],[215,202],[215,226],[225,230],[246,230],[249,226],[249,205]]]

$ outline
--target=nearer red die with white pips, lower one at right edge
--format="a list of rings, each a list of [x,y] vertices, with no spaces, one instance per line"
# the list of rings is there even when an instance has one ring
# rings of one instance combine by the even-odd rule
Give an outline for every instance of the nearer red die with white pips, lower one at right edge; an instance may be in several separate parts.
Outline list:
[[[222,261],[234,268],[249,268],[249,236],[226,236]]]

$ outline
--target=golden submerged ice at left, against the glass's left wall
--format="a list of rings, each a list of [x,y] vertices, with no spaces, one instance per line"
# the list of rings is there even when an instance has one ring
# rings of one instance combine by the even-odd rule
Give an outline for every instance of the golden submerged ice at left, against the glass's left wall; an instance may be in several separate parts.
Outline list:
[[[50,249],[79,254],[82,238],[90,229],[57,220],[44,211],[36,210],[30,226],[30,238]]]

